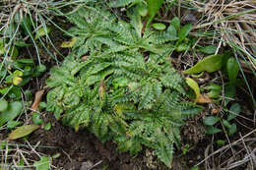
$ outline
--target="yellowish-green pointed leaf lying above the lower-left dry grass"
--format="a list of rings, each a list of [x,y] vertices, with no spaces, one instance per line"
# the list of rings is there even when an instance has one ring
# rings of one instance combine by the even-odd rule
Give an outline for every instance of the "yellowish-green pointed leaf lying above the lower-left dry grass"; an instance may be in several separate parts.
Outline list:
[[[38,128],[39,126],[37,125],[24,125],[22,127],[19,127],[10,134],[8,140],[16,140],[23,138],[25,136],[30,135],[33,131],[37,130]]]

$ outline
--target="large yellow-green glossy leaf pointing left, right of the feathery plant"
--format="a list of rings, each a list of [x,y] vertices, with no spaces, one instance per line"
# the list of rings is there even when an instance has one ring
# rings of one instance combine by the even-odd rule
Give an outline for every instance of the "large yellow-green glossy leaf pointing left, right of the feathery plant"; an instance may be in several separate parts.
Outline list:
[[[222,68],[223,59],[224,55],[210,55],[199,61],[192,68],[185,70],[184,74],[196,74],[203,71],[208,73],[216,72]]]

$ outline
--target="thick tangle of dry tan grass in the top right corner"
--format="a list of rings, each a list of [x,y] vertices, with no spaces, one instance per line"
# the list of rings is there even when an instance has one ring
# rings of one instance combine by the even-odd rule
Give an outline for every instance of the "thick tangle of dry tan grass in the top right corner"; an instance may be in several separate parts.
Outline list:
[[[256,70],[256,1],[255,0],[211,0],[191,3],[205,16],[194,29],[209,27],[219,30],[221,42],[244,53]]]

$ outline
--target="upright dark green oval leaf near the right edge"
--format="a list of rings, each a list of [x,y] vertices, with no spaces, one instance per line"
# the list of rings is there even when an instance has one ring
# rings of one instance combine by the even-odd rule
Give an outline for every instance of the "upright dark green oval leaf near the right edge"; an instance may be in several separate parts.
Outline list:
[[[234,82],[239,72],[239,65],[235,58],[232,57],[227,60],[226,71],[228,74],[229,82]]]

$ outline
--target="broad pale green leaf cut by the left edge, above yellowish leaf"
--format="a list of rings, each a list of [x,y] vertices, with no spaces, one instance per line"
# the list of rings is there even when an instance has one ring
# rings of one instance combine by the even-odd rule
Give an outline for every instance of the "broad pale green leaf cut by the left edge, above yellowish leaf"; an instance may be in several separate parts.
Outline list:
[[[7,110],[0,114],[0,127],[8,121],[14,120],[22,113],[23,103],[20,101],[14,101],[8,104]]]

